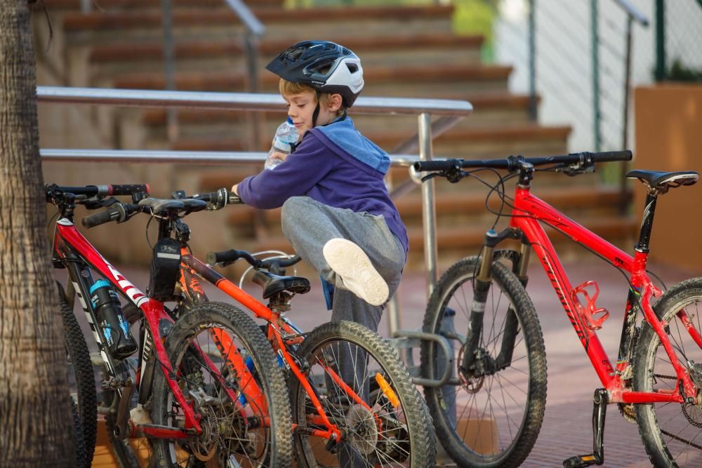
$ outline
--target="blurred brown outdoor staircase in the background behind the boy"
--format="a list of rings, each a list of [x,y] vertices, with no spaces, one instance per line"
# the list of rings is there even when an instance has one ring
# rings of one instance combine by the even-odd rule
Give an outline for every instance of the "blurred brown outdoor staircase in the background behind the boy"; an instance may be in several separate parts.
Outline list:
[[[53,51],[46,55],[38,53],[39,84],[165,88],[160,0],[100,0],[100,10],[87,14],[79,11],[79,0],[44,0],[44,4],[55,39]],[[277,76],[263,69],[275,54],[299,40],[329,39],[361,57],[365,96],[449,98],[472,103],[474,114],[435,140],[436,158],[567,153],[570,128],[539,126],[529,119],[527,96],[508,92],[512,67],[482,64],[482,37],[453,34],[451,6],[286,10],[282,0],[251,0],[249,4],[267,28],[259,46],[261,92],[277,93]],[[39,42],[46,38],[43,16],[43,13],[35,15]],[[173,0],[173,36],[178,90],[249,91],[243,29],[223,0]],[[49,82],[42,82],[42,76]],[[98,145],[190,151],[265,151],[270,147],[275,128],[284,119],[282,113],[263,114],[262,136],[260,141],[253,142],[249,116],[244,112],[180,110],[178,138],[169,142],[164,109],[87,109],[82,115],[81,125],[91,126],[89,133]],[[416,133],[416,117],[354,115],[353,112],[350,115],[364,135],[388,151]],[[47,120],[51,119],[44,119]],[[41,122],[40,119],[42,146],[50,147],[46,140],[53,141],[51,138],[55,135],[47,132],[45,139],[45,126]],[[51,124],[46,123],[46,126]],[[55,140],[65,141],[58,137]],[[81,143],[72,147],[77,145]],[[83,145],[95,147],[95,142]],[[189,193],[204,192],[229,187],[246,175],[258,173],[259,166],[115,167],[114,172],[92,168],[91,177],[94,177],[90,183],[119,182],[114,177],[132,178],[128,182],[135,182],[133,178],[138,177],[140,181],[150,182],[159,195],[167,195],[176,188]],[[71,171],[73,169],[69,169]],[[81,175],[85,177],[86,171],[85,166],[81,168]],[[76,176],[71,172],[65,177]],[[485,177],[494,180],[489,174]],[[406,168],[391,169],[392,184],[406,178]],[[634,220],[616,214],[616,190],[599,187],[596,179],[594,175],[567,178],[539,173],[534,192],[581,224],[628,247],[632,243]],[[507,187],[508,193],[512,187]],[[458,185],[437,182],[437,238],[442,265],[477,252],[485,230],[495,218],[485,210],[487,192],[484,185],[476,181],[464,180]],[[419,190],[396,203],[409,229],[409,267],[421,267],[423,234]],[[202,248],[194,249],[196,253],[204,255],[208,249],[232,246],[250,250],[291,250],[280,232],[279,210],[258,213],[241,206],[225,211],[225,214],[217,213],[219,218],[214,215],[198,218],[199,232],[204,229],[222,231],[221,223],[227,225],[227,230],[222,236],[195,236]],[[143,243],[143,237],[139,241]],[[134,254],[121,251],[121,255]]]

